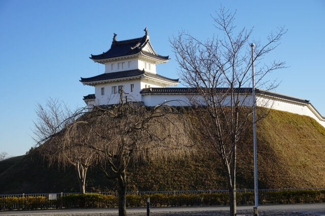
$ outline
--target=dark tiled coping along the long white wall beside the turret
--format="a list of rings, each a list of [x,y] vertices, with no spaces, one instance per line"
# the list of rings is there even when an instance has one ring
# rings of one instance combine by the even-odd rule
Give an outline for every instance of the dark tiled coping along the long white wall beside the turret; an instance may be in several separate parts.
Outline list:
[[[216,88],[216,93],[226,93],[229,89],[228,88]],[[252,88],[240,88],[235,89],[235,92],[240,93],[251,93]],[[267,95],[271,97],[276,98],[282,98],[290,101],[296,101],[304,104],[309,104],[308,100],[301,99],[301,98],[295,98],[287,95],[278,94],[275,92],[269,92],[262,89],[256,89],[256,94],[262,94]],[[198,90],[196,88],[148,88],[148,89],[142,89],[140,94],[198,94]]]

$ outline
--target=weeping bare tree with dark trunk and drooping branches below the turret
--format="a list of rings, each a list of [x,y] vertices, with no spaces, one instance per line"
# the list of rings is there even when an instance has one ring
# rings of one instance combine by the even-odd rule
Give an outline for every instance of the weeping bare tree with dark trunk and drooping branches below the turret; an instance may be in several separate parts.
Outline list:
[[[121,92],[121,99],[124,93]],[[119,215],[126,215],[126,169],[139,161],[170,160],[192,153],[191,127],[179,110],[166,104],[145,107],[121,102],[93,107],[91,130],[100,138],[89,148],[99,155],[101,170],[118,183]]]

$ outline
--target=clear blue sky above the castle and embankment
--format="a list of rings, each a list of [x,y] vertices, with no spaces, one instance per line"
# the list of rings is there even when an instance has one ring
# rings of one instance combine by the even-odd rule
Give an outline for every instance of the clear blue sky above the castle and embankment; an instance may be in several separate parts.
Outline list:
[[[184,29],[199,39],[216,33],[213,20],[220,3],[237,10],[235,24],[251,28],[266,41],[278,26],[288,32],[269,59],[286,69],[268,78],[281,81],[276,92],[310,100],[325,115],[325,1],[16,1],[0,0],[0,152],[25,154],[37,103],[59,98],[74,109],[94,93],[80,77],[104,72],[90,54],[106,52],[112,42],[144,35],[171,60],[157,72],[178,78],[169,38]],[[268,62],[266,62],[268,63]]]

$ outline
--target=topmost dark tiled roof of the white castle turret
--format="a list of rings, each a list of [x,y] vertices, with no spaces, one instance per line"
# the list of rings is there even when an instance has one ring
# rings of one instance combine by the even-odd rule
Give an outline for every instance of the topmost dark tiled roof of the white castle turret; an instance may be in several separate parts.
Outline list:
[[[143,37],[135,38],[135,39],[129,39],[129,40],[121,40],[117,41],[113,39],[111,49],[109,49],[107,52],[103,52],[100,55],[91,55],[89,57],[92,60],[104,60],[104,59],[110,59],[110,58],[116,58],[121,56],[130,56],[135,55],[138,53],[142,53],[146,56],[149,56],[151,58],[155,58],[161,61],[167,61],[169,60],[169,56],[160,56],[157,54],[152,54],[146,51],[143,51],[142,49],[144,46],[149,42],[148,35],[144,35]]]

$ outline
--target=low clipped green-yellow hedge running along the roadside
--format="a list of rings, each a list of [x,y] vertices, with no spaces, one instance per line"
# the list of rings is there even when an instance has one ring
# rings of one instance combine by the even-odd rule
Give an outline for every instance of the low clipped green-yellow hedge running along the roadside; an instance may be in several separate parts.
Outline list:
[[[228,193],[171,194],[155,193],[150,195],[126,195],[127,207],[146,206],[150,197],[151,206],[193,206],[193,205],[228,205]],[[258,195],[259,203],[308,203],[325,202],[325,190],[287,190],[265,191]],[[253,204],[253,192],[238,192],[237,204]],[[42,209],[49,207],[116,207],[118,197],[103,194],[68,194],[57,200],[48,200],[45,196],[4,197],[0,198],[1,210]]]

